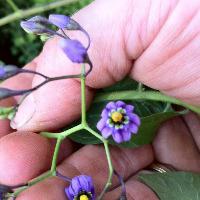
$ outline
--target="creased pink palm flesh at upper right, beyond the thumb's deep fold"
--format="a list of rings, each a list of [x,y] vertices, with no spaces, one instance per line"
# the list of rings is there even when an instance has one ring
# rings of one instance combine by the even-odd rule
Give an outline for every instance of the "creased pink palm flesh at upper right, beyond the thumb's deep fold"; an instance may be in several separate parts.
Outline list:
[[[155,29],[156,37],[135,62],[132,76],[168,95],[200,105],[200,29],[197,28],[200,2],[174,2],[177,3],[173,12],[160,30]],[[153,7],[151,11],[149,27],[154,17]]]

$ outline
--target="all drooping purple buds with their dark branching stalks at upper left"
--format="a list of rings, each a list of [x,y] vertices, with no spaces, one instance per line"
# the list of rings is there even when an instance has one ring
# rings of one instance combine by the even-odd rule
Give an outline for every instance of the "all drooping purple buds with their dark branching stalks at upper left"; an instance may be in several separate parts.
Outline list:
[[[7,88],[0,88],[0,100],[8,98],[8,97],[12,97],[12,96],[17,96],[17,95],[28,95],[50,81],[67,79],[67,78],[80,78],[82,75],[87,76],[92,71],[92,62],[90,61],[89,56],[87,54],[87,50],[90,46],[90,37],[88,33],[80,26],[80,24],[77,23],[75,20],[73,20],[71,17],[65,16],[65,15],[58,15],[58,14],[51,14],[49,15],[49,18],[45,18],[42,16],[35,16],[35,17],[30,18],[29,20],[22,21],[20,24],[21,24],[21,27],[28,33],[34,33],[38,35],[47,35],[49,37],[57,35],[58,37],[60,37],[59,45],[60,45],[60,48],[65,53],[65,55],[74,63],[89,64],[90,68],[87,72],[85,72],[85,74],[68,75],[68,76],[50,78],[50,77],[45,76],[44,74],[41,74],[32,70],[20,69],[17,66],[1,65],[0,66],[0,80],[6,80],[7,78],[16,76],[19,73],[33,73],[35,75],[42,76],[45,80],[40,85],[37,85],[36,87],[27,89],[27,90],[16,91],[16,90],[10,90]],[[61,29],[61,33],[53,30],[51,28],[52,25]],[[70,39],[64,32],[64,29],[79,30],[83,32],[88,38],[87,47],[84,47],[83,44],[78,40]]]

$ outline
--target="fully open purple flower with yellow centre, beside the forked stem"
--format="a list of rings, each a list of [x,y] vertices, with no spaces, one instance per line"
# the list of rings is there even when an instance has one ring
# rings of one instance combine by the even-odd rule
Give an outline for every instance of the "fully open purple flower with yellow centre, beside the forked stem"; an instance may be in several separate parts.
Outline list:
[[[140,118],[133,110],[132,105],[127,105],[123,101],[109,102],[101,113],[97,129],[106,139],[112,135],[117,143],[129,141],[140,126]]]

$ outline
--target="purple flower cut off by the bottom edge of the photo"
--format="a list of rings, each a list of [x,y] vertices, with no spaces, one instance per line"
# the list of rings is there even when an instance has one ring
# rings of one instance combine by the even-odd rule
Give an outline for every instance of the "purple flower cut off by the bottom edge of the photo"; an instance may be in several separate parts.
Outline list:
[[[95,200],[94,185],[90,176],[74,177],[65,192],[69,200]]]

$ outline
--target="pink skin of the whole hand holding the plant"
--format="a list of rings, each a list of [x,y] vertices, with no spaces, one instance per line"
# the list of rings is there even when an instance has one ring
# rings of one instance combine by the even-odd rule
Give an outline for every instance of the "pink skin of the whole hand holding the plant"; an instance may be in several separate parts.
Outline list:
[[[92,39],[89,55],[94,69],[87,79],[88,106],[96,88],[112,85],[127,75],[168,95],[200,105],[199,9],[199,0],[96,0],[76,13],[74,18]],[[70,35],[85,42],[81,34]],[[25,67],[49,76],[77,72],[80,67],[67,59],[57,45],[58,40],[49,40],[42,53]],[[22,89],[40,81],[38,77],[19,75],[3,86]],[[78,80],[50,83],[21,105],[12,122],[17,133],[9,128],[8,121],[0,121],[1,183],[27,182],[50,167],[54,144],[34,132],[57,130],[77,119],[79,91]],[[13,100],[1,103],[13,104]],[[199,130],[199,116],[189,113],[163,124],[151,145],[111,148],[114,165],[127,180],[128,199],[158,199],[133,176],[154,161],[170,164],[177,170],[200,172]],[[77,150],[69,140],[62,148],[60,173],[69,177],[89,174],[99,192],[107,177],[103,148],[89,145]],[[65,186],[63,181],[50,178],[21,193],[17,200],[64,200]],[[119,190],[113,188],[105,199],[118,199]]]

